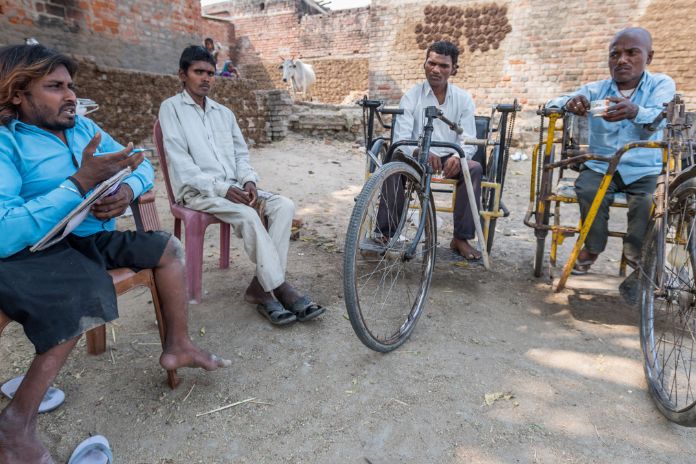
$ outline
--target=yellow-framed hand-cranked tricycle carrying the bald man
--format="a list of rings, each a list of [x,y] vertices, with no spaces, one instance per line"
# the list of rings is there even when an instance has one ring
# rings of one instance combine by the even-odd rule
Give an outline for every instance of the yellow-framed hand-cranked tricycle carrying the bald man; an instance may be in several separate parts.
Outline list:
[[[541,108],[540,141],[534,149],[530,206],[525,224],[535,229],[537,253],[534,265],[541,274],[544,240],[551,232],[551,265],[558,245],[565,237],[578,234],[570,258],[557,284],[564,287],[585,237],[595,218],[621,157],[634,148],[662,150],[662,172],[653,196],[651,223],[637,265],[640,306],[640,341],[648,390],[658,409],[669,420],[696,426],[696,114],[685,111],[679,95],[665,105],[662,114],[646,130],[657,130],[667,120],[662,141],[631,142],[612,157],[600,157],[578,143],[578,119],[558,108]],[[548,119],[548,131],[544,121]],[[562,125],[559,125],[562,121]],[[556,131],[562,129],[562,136]],[[546,134],[546,138],[544,138]],[[556,157],[556,147],[560,156]],[[573,202],[565,171],[588,160],[608,163],[584,224],[560,223],[560,204]],[[551,205],[554,204],[553,214]],[[625,206],[615,199],[612,206]],[[553,216],[553,224],[550,218]],[[612,235],[621,236],[620,232]],[[622,273],[626,260],[622,259]]]

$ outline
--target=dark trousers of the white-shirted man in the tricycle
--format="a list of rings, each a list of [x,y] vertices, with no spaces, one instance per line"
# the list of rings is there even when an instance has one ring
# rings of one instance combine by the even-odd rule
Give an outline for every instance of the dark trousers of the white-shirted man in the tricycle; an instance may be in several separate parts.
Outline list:
[[[441,161],[445,162],[451,155],[443,156]],[[474,188],[474,195],[477,203],[481,204],[481,177],[483,168],[477,161],[467,161],[471,183]],[[457,198],[454,203],[454,237],[459,240],[471,240],[476,237],[476,226],[474,225],[473,214],[469,205],[469,195],[466,192],[464,174],[461,172],[455,178],[457,180]],[[379,210],[377,211],[377,230],[391,237],[401,219],[401,212],[404,210],[404,185],[403,179],[399,176],[390,176],[382,185],[382,197],[380,199]]]

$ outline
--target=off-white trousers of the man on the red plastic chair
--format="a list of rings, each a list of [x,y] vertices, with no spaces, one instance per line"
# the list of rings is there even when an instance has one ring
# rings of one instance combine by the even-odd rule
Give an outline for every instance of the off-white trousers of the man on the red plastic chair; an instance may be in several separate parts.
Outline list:
[[[270,292],[285,282],[295,205],[282,195],[261,190],[258,193],[259,198],[266,197],[268,230],[254,208],[226,198],[186,195],[184,206],[210,213],[230,224],[237,237],[244,242],[247,256],[256,264],[256,277],[261,286]]]

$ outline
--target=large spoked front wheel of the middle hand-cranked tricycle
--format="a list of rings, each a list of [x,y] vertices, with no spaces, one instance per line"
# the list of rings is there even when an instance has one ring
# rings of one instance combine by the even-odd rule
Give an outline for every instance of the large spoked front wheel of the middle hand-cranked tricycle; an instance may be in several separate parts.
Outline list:
[[[353,208],[353,213],[348,224],[348,231],[346,233],[343,261],[343,289],[350,323],[356,335],[365,346],[382,353],[392,351],[401,346],[408,339],[416,326],[416,322],[422,314],[427,300],[433,268],[435,266],[437,245],[435,208],[432,195],[430,198],[426,199],[423,197],[422,193],[414,193],[413,195],[417,197],[420,202],[419,206],[421,207],[421,211],[424,202],[429,202],[428,215],[423,232],[424,242],[422,249],[424,253],[422,256],[419,256],[420,260],[406,260],[403,258],[403,253],[399,256],[396,247],[389,251],[388,245],[384,245],[386,251],[383,253],[380,251],[379,254],[377,254],[378,259],[373,260],[378,262],[378,264],[376,264],[376,270],[368,274],[359,274],[362,272],[363,267],[360,269],[358,269],[358,267],[363,266],[363,263],[367,263],[364,266],[368,269],[371,266],[371,260],[364,259],[363,253],[365,245],[361,242],[368,240],[364,237],[366,233],[371,234],[372,231],[375,230],[374,220],[368,218],[368,214],[375,212],[374,207],[371,209],[371,206],[373,206],[372,202],[378,201],[377,199],[381,194],[382,185],[385,180],[395,175],[403,176],[402,178],[405,179],[406,185],[420,185],[420,176],[415,169],[406,163],[391,162],[375,171],[363,186],[356,200],[355,207]],[[404,213],[408,214],[407,205],[404,209]],[[397,226],[397,231],[393,234],[394,237],[400,238],[402,235],[407,234],[407,230],[408,233],[412,231],[412,228],[408,229],[410,226],[406,220],[405,214],[401,216],[402,219],[399,226]],[[397,242],[398,241],[399,240],[397,240]],[[392,242],[393,239],[390,239],[389,243]],[[361,246],[363,248],[361,248]],[[400,249],[403,250],[404,248],[406,247],[402,246]],[[374,254],[377,252],[371,251],[371,253]],[[389,255],[389,257],[387,255]],[[396,259],[394,259],[395,255],[397,256]],[[382,262],[388,259],[391,259],[396,264],[382,264]],[[409,274],[411,265],[413,265],[412,267],[415,269],[415,272]],[[378,273],[380,270],[377,269],[379,267],[383,267],[384,272],[382,273],[382,277],[372,280],[371,276],[379,275]],[[402,268],[407,269],[402,271]],[[416,289],[414,292],[399,292],[399,286],[396,285],[396,282],[400,276],[403,276],[404,283],[406,283],[406,279],[408,279],[408,277],[406,277],[407,274],[417,281]],[[379,308],[378,311],[374,311],[374,307],[380,304],[379,298],[375,296],[376,291],[372,293],[373,290],[370,287],[365,290],[364,296],[371,295],[371,299],[363,298],[361,300],[361,295],[363,294],[363,292],[361,292],[362,288],[360,287],[361,282],[364,282],[363,286],[365,288],[368,287],[368,284],[377,285],[377,291],[379,291],[382,282],[386,281],[390,276],[394,276],[394,283],[389,287],[389,292],[387,294],[388,299],[381,302],[382,307]],[[408,284],[406,283],[406,285]],[[410,307],[409,304],[400,304],[401,298],[410,300],[411,297],[413,298],[413,303],[410,304]],[[370,306],[371,303],[372,306]],[[395,318],[390,318],[389,309],[385,308],[385,305],[389,303],[391,303],[393,312],[397,313]],[[372,314],[376,314],[377,316],[373,316]],[[393,319],[393,321],[385,324],[387,328],[384,329],[384,336],[380,336],[378,333],[381,329],[376,327],[377,321],[374,320],[375,318]]]

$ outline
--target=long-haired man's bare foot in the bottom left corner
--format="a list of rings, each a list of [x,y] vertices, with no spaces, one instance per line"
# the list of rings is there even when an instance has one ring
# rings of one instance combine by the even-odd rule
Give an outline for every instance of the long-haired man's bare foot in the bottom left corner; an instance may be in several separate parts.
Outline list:
[[[54,464],[35,428],[13,421],[8,415],[7,409],[0,415],[0,463]]]

